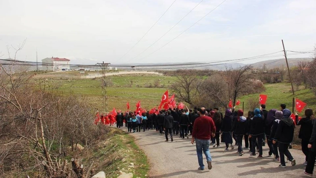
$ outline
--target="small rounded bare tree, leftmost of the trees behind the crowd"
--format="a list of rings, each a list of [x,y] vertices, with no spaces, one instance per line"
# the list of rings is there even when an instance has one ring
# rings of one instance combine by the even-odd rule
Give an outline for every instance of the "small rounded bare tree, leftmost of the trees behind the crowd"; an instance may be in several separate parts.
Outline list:
[[[197,88],[200,79],[192,70],[185,70],[177,76],[177,79],[170,86],[177,97],[189,104],[192,104],[197,96]]]

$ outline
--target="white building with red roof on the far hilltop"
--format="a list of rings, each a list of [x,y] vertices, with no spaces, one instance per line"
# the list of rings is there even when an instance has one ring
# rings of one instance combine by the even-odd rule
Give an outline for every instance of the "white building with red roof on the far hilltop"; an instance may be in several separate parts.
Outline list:
[[[66,58],[45,58],[42,59],[44,71],[65,71],[70,70],[69,59]]]

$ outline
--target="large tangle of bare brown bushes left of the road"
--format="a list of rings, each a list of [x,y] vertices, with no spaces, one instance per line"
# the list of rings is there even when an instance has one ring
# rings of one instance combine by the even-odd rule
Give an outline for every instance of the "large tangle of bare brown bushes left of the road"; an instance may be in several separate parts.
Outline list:
[[[103,132],[88,102],[1,64],[0,78],[0,177],[83,178],[66,156],[68,146],[89,147]]]

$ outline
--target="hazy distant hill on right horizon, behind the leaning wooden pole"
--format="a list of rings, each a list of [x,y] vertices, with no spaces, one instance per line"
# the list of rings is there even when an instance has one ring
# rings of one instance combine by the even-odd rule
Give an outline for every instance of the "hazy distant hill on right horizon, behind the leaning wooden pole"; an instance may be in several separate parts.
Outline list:
[[[298,62],[303,61],[303,60],[311,61],[313,60],[313,58],[288,58],[289,67],[291,68],[292,66],[297,65]],[[263,68],[264,64],[267,69],[273,69],[277,67],[286,68],[285,58],[261,61],[261,62],[257,62],[250,65],[253,66],[254,68]]]

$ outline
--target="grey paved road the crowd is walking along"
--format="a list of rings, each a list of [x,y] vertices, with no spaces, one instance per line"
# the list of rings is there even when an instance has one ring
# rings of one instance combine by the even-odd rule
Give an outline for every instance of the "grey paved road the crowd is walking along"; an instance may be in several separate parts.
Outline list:
[[[123,130],[127,131],[124,127]],[[159,132],[146,131],[131,133],[135,137],[136,143],[144,150],[150,162],[149,176],[151,178],[179,177],[214,177],[214,178],[289,178],[305,177],[304,156],[301,150],[290,149],[296,160],[296,166],[291,166],[287,162],[286,168],[279,168],[279,162],[273,161],[273,157],[268,156],[268,146],[263,147],[263,159],[251,157],[245,153],[242,157],[238,156],[237,149],[224,151],[224,145],[220,148],[210,148],[212,155],[213,169],[208,170],[204,158],[205,170],[198,171],[197,155],[195,145],[191,144],[190,139],[181,139],[175,136],[174,141],[164,142],[164,135]],[[247,152],[248,150],[244,150]],[[257,154],[258,155],[258,154]]]

